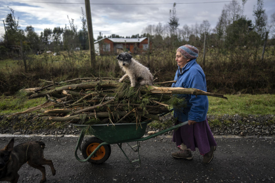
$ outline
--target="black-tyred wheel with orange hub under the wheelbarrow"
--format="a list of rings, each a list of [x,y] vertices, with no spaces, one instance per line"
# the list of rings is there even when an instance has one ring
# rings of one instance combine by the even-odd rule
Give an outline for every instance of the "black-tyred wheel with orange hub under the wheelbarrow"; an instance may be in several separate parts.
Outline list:
[[[103,141],[96,137],[91,137],[85,141],[85,143],[82,145],[81,151],[82,156],[86,159],[94,150],[101,144]],[[94,156],[91,157],[88,162],[95,163],[95,164],[101,164],[105,162],[111,154],[111,146],[103,145],[97,150]]]

